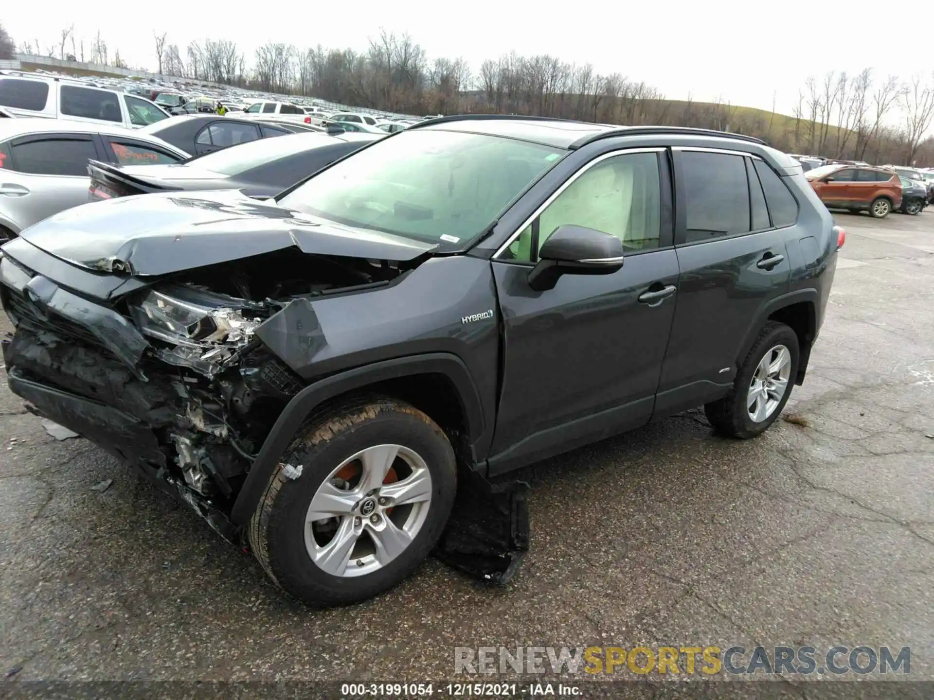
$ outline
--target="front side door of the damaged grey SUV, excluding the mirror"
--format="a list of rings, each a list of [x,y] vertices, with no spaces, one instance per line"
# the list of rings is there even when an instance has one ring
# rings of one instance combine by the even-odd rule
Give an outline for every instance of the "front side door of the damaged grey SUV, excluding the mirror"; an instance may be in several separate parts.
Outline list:
[[[493,260],[504,350],[490,474],[649,420],[678,277],[668,173],[664,150],[591,161]],[[618,236],[622,269],[531,289],[538,249],[563,224]]]

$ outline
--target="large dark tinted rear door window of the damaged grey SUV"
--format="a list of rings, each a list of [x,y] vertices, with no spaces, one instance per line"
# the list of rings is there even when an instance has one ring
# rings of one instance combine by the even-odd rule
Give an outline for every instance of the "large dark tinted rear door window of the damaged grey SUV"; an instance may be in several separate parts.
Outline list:
[[[686,243],[749,232],[749,184],[743,156],[682,151]]]

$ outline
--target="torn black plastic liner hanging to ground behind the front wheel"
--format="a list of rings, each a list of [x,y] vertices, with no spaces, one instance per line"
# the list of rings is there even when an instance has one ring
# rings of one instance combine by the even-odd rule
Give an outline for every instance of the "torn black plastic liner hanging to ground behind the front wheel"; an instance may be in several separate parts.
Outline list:
[[[458,495],[434,555],[483,581],[505,584],[529,551],[529,484],[491,483],[461,469]]]

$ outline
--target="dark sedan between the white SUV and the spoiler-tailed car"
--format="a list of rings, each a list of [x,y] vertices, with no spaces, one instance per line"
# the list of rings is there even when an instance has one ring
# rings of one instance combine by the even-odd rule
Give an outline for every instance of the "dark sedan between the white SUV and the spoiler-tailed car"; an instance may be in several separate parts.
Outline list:
[[[270,136],[284,136],[299,129],[290,128],[288,122],[257,123],[252,119],[221,117],[219,114],[201,114],[163,119],[138,130],[167,141],[184,151],[201,155],[249,141]]]

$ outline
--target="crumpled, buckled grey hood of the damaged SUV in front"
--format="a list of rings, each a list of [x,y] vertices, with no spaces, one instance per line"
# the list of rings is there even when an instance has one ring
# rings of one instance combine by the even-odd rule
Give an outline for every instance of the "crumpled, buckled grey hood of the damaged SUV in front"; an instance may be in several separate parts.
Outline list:
[[[134,276],[176,273],[290,246],[308,254],[398,261],[437,247],[311,217],[235,189],[82,204],[20,235],[89,270]]]

